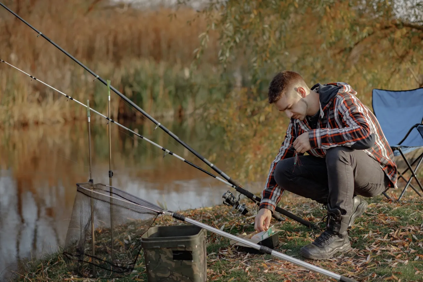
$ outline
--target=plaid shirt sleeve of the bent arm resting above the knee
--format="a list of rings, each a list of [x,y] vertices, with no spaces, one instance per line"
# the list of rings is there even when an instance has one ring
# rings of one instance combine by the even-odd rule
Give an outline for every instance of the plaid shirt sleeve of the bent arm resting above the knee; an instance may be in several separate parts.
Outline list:
[[[351,147],[355,143],[368,139],[371,134],[370,122],[365,115],[365,107],[353,95],[338,95],[334,101],[337,115],[335,123],[342,123],[343,128],[322,128],[309,131],[311,148],[329,149],[336,146]]]

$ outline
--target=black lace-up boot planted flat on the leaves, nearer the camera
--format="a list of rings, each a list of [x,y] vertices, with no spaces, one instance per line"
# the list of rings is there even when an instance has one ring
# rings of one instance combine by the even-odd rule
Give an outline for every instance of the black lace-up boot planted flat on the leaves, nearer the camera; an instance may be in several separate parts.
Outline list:
[[[313,243],[303,246],[300,253],[312,260],[324,260],[333,257],[338,252],[348,252],[351,249],[346,224],[338,209],[327,207],[326,230]]]

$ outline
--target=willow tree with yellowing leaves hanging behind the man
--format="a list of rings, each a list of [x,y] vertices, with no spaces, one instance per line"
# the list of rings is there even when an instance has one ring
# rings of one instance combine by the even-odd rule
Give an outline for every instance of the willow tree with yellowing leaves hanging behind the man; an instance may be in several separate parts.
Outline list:
[[[347,82],[368,106],[373,88],[423,86],[420,0],[212,0],[199,13],[208,24],[196,59],[217,33],[220,63],[244,76],[246,87],[210,110],[240,178],[263,179],[284,138],[287,120],[266,102],[278,71],[298,71],[309,85]]]

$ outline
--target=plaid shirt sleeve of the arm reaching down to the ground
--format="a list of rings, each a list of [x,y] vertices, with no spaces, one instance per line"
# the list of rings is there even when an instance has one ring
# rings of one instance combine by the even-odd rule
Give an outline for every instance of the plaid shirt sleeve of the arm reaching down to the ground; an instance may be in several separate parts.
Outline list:
[[[259,209],[267,208],[272,211],[272,213],[275,211],[276,204],[279,203],[284,190],[277,185],[273,173],[275,172],[277,163],[281,159],[290,158],[295,155],[294,146],[292,146],[294,139],[295,126],[293,120],[291,119],[288,125],[288,129],[286,129],[285,140],[283,140],[279,149],[279,153],[270,165],[269,175],[267,176],[264,190],[261,192],[261,202]]]

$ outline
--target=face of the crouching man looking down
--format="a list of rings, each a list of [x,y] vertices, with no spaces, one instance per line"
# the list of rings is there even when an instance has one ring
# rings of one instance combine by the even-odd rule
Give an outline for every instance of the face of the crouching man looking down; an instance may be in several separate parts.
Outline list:
[[[286,93],[275,102],[275,106],[277,110],[285,112],[288,118],[304,120],[307,113],[307,102],[302,99],[302,96],[297,91],[292,90],[291,93]]]

